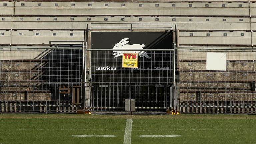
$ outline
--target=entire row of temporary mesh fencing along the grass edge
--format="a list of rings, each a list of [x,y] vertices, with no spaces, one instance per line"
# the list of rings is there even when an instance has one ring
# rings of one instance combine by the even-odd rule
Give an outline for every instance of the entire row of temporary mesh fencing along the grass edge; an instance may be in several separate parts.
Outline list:
[[[90,110],[255,113],[254,49],[178,48],[176,57],[174,51],[3,47],[0,111],[76,112],[85,96]],[[134,55],[137,67],[124,61]]]

